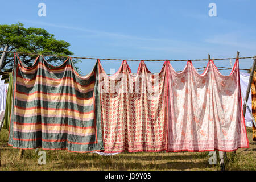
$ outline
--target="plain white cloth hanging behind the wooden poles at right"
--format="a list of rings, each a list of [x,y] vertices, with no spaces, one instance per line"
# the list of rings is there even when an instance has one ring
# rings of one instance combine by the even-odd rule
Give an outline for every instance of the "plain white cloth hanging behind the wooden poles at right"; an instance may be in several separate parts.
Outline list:
[[[249,73],[240,72],[241,94],[243,94],[244,98],[246,96],[247,87],[248,87],[248,83],[249,83],[249,78],[250,78]],[[244,102],[243,102],[243,97],[242,97],[242,105],[243,104],[244,104]],[[250,111],[249,111],[248,107],[246,107],[245,126],[246,127],[252,127],[253,126],[253,118],[251,118],[251,90],[250,90],[250,94],[249,94],[249,97],[248,97],[247,105],[249,106]]]

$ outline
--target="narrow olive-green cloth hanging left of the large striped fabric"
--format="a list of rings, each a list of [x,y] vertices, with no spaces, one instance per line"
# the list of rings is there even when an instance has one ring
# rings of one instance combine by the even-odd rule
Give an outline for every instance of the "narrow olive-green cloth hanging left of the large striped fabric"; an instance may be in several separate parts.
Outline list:
[[[3,121],[3,129],[9,130],[11,120],[11,104],[13,102],[13,73],[9,73],[9,85],[6,97],[5,119]]]

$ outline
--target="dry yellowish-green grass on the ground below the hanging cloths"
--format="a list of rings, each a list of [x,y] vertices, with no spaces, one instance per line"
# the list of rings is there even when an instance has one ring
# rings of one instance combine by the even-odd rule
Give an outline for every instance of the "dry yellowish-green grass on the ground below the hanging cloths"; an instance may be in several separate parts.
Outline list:
[[[250,148],[240,148],[234,155],[227,152],[226,170],[256,170],[256,142],[247,127]],[[220,170],[220,165],[208,163],[208,152],[124,152],[113,156],[67,151],[46,151],[46,164],[38,164],[38,151],[25,150],[18,160],[18,149],[7,146],[8,131],[0,133],[0,170]],[[232,160],[233,158],[233,160]]]

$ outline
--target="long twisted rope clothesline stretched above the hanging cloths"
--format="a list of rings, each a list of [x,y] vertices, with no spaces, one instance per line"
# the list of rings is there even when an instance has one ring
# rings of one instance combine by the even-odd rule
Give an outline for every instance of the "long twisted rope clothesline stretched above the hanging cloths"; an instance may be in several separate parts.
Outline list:
[[[38,55],[38,53],[27,53],[27,52],[11,52],[11,51],[0,51],[0,52],[7,52],[7,53],[18,53],[18,54],[24,54],[24,55]],[[51,57],[71,57],[74,59],[93,59],[93,60],[114,60],[114,61],[167,61],[167,60],[144,60],[144,59],[106,59],[106,58],[97,58],[97,57],[76,57],[76,56],[57,56],[57,55],[42,55],[42,56],[51,56]],[[239,57],[239,59],[250,59],[254,58],[256,59],[256,56],[250,56],[250,57]],[[236,57],[233,58],[218,58],[218,59],[212,59],[212,60],[229,60],[229,59],[237,59]],[[187,60],[169,60],[169,61],[208,61],[209,59],[187,59]]]

